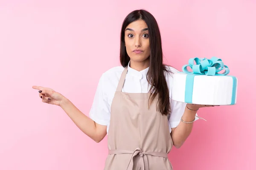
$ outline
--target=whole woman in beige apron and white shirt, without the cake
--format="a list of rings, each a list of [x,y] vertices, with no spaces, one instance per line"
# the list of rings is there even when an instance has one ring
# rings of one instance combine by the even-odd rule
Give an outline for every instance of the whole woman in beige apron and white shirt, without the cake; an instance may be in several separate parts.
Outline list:
[[[42,102],[60,106],[95,142],[108,134],[105,170],[172,170],[167,154],[181,147],[205,105],[171,101],[175,68],[163,64],[160,31],[145,10],[132,11],[121,30],[120,62],[102,74],[90,118],[50,88]]]

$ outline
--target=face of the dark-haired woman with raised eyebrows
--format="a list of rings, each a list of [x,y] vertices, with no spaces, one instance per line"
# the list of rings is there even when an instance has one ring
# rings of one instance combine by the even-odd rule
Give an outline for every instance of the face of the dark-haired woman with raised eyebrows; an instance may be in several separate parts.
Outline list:
[[[134,21],[125,28],[125,47],[132,61],[143,62],[149,58],[148,26],[144,20]]]

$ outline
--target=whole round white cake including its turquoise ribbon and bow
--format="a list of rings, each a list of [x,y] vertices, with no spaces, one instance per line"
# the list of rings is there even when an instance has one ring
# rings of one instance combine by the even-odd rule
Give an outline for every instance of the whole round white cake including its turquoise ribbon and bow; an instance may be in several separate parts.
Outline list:
[[[227,75],[229,69],[221,59],[192,58],[182,70],[173,74],[173,100],[199,105],[236,104],[237,78]],[[225,72],[219,74],[222,70]]]

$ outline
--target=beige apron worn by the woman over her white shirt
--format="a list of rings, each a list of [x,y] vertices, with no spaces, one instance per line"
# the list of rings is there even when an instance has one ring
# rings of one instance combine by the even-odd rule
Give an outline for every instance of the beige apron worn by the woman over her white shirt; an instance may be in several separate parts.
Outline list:
[[[127,67],[111,105],[104,170],[172,170],[168,118],[157,111],[156,99],[148,109],[149,93],[122,92],[126,74]]]

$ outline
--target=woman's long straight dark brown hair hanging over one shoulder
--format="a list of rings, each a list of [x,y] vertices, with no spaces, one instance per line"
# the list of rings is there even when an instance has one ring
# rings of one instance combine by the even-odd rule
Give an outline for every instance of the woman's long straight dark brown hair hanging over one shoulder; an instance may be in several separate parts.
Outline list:
[[[147,74],[148,83],[151,85],[150,88],[150,100],[158,94],[157,105],[160,113],[168,115],[171,111],[169,89],[167,86],[164,71],[170,72],[166,65],[163,64],[163,52],[160,30],[158,28],[157,21],[154,16],[148,11],[143,9],[132,11],[125,17],[122,23],[121,29],[121,45],[120,45],[120,62],[123,67],[126,67],[130,61],[125,48],[125,28],[136,20],[144,20],[148,26],[148,36],[150,45],[150,64]]]

